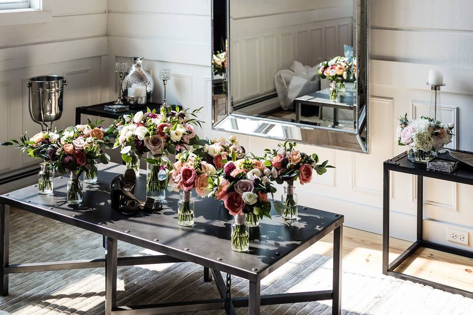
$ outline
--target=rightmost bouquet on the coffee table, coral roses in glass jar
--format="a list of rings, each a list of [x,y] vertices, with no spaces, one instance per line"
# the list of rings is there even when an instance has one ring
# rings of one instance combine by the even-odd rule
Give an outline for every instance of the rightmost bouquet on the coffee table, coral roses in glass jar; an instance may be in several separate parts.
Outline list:
[[[295,150],[295,147],[295,142],[286,141],[284,144],[278,144],[276,149],[265,150],[265,165],[271,167],[270,179],[278,184],[287,183],[281,197],[281,201],[286,206],[282,212],[282,217],[286,220],[297,219],[298,200],[294,193],[294,181],[299,179],[301,185],[304,185],[312,181],[313,170],[318,175],[323,175],[327,172],[327,168],[333,168],[333,166],[328,165],[329,161],[317,164],[319,158],[315,153],[310,156]]]

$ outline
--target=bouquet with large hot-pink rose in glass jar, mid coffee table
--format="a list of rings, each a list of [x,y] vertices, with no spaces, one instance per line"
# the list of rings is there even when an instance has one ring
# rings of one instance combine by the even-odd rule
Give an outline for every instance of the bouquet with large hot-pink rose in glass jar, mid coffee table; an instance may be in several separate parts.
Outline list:
[[[194,200],[191,190],[195,189],[201,197],[210,192],[209,179],[215,175],[215,168],[201,157],[184,151],[176,155],[177,161],[169,172],[169,189],[182,191],[177,203],[177,222],[182,226],[194,225]]]

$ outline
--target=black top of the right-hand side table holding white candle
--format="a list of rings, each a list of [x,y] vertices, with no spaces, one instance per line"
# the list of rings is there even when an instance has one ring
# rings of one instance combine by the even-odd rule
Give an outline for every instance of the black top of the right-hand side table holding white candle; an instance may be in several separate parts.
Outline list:
[[[459,151],[459,150],[452,150]],[[465,152],[465,151],[459,151]],[[468,152],[466,152],[468,153]],[[448,153],[439,154],[438,158],[456,161]],[[414,163],[407,159],[407,152],[384,162],[384,169],[401,173],[437,178],[450,182],[473,185],[473,168],[460,162],[460,166],[452,173],[435,171],[427,168],[426,164]]]

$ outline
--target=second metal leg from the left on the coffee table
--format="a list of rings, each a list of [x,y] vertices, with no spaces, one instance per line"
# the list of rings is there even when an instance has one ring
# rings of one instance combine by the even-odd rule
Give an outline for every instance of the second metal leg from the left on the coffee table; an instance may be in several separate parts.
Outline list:
[[[117,308],[117,240],[107,237],[105,255],[105,315]]]

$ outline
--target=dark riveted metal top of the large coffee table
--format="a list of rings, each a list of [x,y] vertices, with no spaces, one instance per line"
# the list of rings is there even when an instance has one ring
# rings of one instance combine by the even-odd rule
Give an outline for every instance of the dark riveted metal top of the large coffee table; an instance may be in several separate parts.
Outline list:
[[[338,214],[299,207],[299,220],[285,221],[272,210],[272,220],[265,218],[259,228],[251,229],[250,251],[234,252],[230,245],[233,218],[219,201],[194,197],[194,227],[177,224],[177,193],[169,194],[169,205],[153,213],[127,217],[112,210],[108,185],[124,171],[124,165],[100,164],[99,182],[84,184],[80,206],[66,202],[68,176],[54,180],[53,195],[37,194],[34,185],[0,195],[0,203],[248,280],[265,277],[344,220]],[[145,195],[145,177],[142,171],[135,188],[140,197]]]

